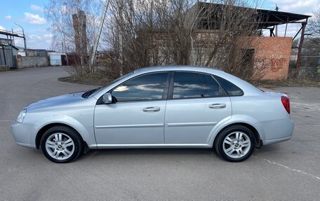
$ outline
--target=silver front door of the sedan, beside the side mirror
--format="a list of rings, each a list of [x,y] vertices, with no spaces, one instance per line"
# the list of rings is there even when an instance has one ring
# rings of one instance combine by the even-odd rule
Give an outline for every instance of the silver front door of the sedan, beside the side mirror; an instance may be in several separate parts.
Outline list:
[[[114,103],[95,106],[98,147],[163,144],[168,72],[132,78],[111,91]]]

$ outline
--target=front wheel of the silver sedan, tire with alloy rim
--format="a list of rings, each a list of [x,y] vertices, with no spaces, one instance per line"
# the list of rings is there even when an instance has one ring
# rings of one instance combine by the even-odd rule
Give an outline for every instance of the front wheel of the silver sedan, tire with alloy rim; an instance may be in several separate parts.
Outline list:
[[[52,162],[67,163],[76,160],[84,152],[79,134],[69,127],[55,126],[41,137],[41,150]]]

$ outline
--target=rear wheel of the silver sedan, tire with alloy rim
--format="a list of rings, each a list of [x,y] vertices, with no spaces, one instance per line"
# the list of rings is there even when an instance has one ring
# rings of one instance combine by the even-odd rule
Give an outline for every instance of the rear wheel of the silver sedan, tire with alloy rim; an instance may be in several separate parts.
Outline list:
[[[252,155],[255,137],[248,127],[232,125],[218,134],[213,145],[221,158],[229,162],[241,162]]]

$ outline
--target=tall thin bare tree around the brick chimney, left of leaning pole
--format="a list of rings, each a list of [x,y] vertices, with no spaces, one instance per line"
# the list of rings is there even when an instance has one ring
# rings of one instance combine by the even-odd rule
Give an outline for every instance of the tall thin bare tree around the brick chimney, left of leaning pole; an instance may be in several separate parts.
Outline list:
[[[101,1],[49,0],[45,6],[54,36],[53,49],[69,53],[67,58],[74,64],[67,67],[71,74],[83,76],[94,71],[88,64],[88,55],[98,32],[102,4]],[[81,12],[84,12],[82,17]]]

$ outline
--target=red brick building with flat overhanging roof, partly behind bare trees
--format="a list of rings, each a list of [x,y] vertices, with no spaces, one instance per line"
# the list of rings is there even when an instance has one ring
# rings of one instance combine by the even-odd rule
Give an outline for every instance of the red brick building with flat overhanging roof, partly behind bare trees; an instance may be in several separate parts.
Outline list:
[[[187,25],[187,27],[192,26],[194,29],[192,36],[193,46],[189,56],[190,61],[194,60],[194,57],[196,57],[196,60],[199,60],[199,57],[200,60],[207,59],[207,55],[201,55],[199,52],[214,47],[213,43],[220,30],[219,21],[217,20],[218,17],[216,15],[218,15],[217,13],[219,12],[223,12],[223,6],[225,5],[198,2],[189,10],[189,19],[196,18],[196,20],[188,20],[191,24]],[[253,20],[255,20],[253,23],[257,23],[257,33],[258,31],[262,32],[262,29],[268,29],[270,33],[269,36],[239,37],[239,41],[251,41],[248,42],[248,44],[243,43],[241,45],[244,46],[244,50],[250,50],[250,53],[252,54],[253,67],[254,69],[258,69],[255,71],[256,74],[254,74],[254,76],[263,80],[280,80],[288,78],[288,67],[293,38],[275,36],[274,28],[276,25],[288,23],[301,24],[302,28],[299,32],[301,32],[302,40],[300,40],[300,46],[302,46],[305,25],[307,24],[307,18],[310,16],[253,8],[237,8],[244,9],[244,12],[249,10],[254,11],[252,13],[254,13],[253,15],[256,15],[256,18],[253,16]],[[210,11],[210,9],[213,10]],[[211,13],[212,16],[208,18],[208,15],[206,15],[206,18],[204,19],[199,18],[199,13],[201,12]],[[208,19],[211,19],[212,21],[208,21]],[[299,32],[296,36],[298,36]],[[152,41],[152,53],[149,53],[150,60],[170,60],[168,57],[164,58],[164,53],[161,53],[162,49],[166,49],[166,37],[168,37],[166,35],[168,33],[154,30],[149,32],[149,34],[148,38]],[[198,55],[196,55],[197,53]],[[223,57],[223,53],[221,53],[221,57]],[[212,61],[213,64],[211,64],[211,66],[214,66],[214,62],[215,61]],[[299,59],[297,62],[299,62]],[[160,62],[157,64],[161,65],[163,63]]]

